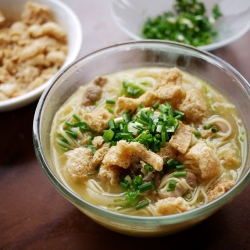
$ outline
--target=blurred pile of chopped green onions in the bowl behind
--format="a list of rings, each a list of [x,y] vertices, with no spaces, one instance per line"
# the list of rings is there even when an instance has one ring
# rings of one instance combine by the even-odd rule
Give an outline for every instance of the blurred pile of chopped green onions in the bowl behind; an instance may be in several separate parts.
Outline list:
[[[212,43],[217,35],[213,25],[222,16],[218,4],[214,5],[211,17],[206,15],[204,3],[197,0],[176,0],[173,7],[174,11],[148,18],[143,25],[142,36],[196,47]]]

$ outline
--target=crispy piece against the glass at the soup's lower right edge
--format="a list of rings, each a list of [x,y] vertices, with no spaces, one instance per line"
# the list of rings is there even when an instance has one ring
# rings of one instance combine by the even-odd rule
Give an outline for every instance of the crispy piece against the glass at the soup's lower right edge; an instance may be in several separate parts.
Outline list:
[[[221,179],[215,182],[207,191],[208,201],[211,202],[225,194],[235,185],[235,181]]]

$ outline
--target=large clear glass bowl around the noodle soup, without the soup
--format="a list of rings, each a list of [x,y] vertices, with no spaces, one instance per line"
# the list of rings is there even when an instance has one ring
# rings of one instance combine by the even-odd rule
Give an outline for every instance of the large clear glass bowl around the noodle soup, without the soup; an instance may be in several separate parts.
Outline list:
[[[160,217],[129,216],[107,211],[80,198],[63,184],[55,170],[50,148],[52,120],[60,106],[78,87],[103,74],[145,67],[176,66],[201,77],[216,87],[238,109],[245,126],[244,171],[237,184],[225,195],[194,210]],[[250,105],[249,83],[232,66],[218,57],[174,42],[135,41],[121,43],[91,53],[69,65],[41,96],[34,116],[33,140],[37,158],[52,185],[92,220],[113,231],[140,237],[172,234],[206,219],[235,198],[250,181]],[[237,212],[237,211],[235,211]],[[87,230],[87,229],[86,229]]]

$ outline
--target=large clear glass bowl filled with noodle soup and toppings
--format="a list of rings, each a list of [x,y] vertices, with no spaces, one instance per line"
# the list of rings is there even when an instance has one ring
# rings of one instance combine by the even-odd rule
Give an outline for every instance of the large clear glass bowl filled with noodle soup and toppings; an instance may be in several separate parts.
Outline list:
[[[54,187],[97,223],[141,237],[175,233],[248,185],[249,94],[234,68],[192,46],[114,45],[45,90],[36,155]]]

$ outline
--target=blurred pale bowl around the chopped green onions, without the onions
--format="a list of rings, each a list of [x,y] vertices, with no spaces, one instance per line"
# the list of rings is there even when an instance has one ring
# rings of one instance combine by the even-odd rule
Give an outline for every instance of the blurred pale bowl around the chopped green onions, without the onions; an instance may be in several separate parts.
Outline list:
[[[212,44],[201,46],[207,51],[225,46],[250,28],[249,0],[200,0],[211,14],[211,9],[218,3],[223,16],[218,19],[214,28],[218,36]],[[143,39],[142,25],[148,17],[155,17],[165,11],[173,11],[174,0],[110,0],[110,8],[116,24],[131,38]]]

